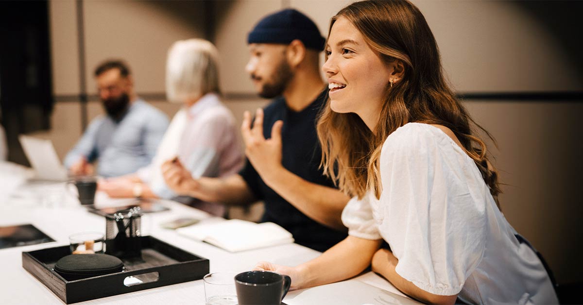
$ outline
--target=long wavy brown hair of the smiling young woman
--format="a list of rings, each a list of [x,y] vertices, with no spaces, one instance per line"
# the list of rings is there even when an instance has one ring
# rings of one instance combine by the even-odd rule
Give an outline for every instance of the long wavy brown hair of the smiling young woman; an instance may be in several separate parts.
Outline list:
[[[419,9],[408,1],[355,2],[332,17],[328,36],[340,16],[352,22],[382,60],[401,61],[405,71],[392,87],[387,80],[376,133],[357,114],[332,111],[328,99],[317,127],[324,173],[348,195],[362,198],[375,190],[380,198],[378,159],[385,139],[408,122],[437,124],[454,132],[497,199],[498,174],[476,129],[496,141],[470,118],[449,88],[436,40]]]

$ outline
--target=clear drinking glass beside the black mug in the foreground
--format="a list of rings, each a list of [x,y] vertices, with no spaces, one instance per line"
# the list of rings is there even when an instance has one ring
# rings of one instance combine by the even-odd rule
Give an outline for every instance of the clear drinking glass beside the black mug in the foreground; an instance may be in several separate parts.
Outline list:
[[[236,305],[235,275],[231,272],[215,272],[205,275],[206,305]]]

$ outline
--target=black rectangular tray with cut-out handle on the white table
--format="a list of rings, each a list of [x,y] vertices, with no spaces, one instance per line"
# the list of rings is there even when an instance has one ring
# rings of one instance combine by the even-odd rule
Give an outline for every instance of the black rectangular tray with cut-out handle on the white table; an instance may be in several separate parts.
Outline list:
[[[69,246],[23,252],[22,267],[66,304],[121,295],[143,289],[202,279],[209,273],[209,260],[151,236],[140,237],[142,259],[124,261],[125,271],[67,281],[53,270],[55,262],[71,254]],[[79,254],[82,255],[82,254]],[[128,276],[142,283],[124,285]],[[135,282],[135,281],[134,281]]]

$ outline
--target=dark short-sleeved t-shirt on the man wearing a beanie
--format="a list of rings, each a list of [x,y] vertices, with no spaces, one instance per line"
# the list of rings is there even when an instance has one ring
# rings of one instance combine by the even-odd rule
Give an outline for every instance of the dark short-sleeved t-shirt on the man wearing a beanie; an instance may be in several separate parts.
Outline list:
[[[271,138],[273,123],[282,120],[283,167],[308,182],[334,187],[332,180],[318,169],[322,149],[316,134],[316,122],[318,113],[324,106],[326,93],[328,90],[324,90],[310,106],[300,112],[288,108],[283,97],[273,100],[264,109],[263,132],[265,138]],[[248,159],[245,160],[245,167],[239,174],[255,197],[265,202],[265,213],[261,222],[273,222],[284,227],[293,234],[296,243],[325,251],[346,238],[346,233],[321,225],[305,216],[269,188]]]

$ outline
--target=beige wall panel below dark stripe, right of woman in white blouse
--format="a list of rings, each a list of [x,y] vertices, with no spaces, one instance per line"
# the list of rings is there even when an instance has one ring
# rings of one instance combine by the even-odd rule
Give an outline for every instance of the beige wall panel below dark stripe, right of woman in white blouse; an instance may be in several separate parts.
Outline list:
[[[581,278],[581,103],[472,101],[466,107],[498,141],[503,212],[545,256],[559,282]]]

